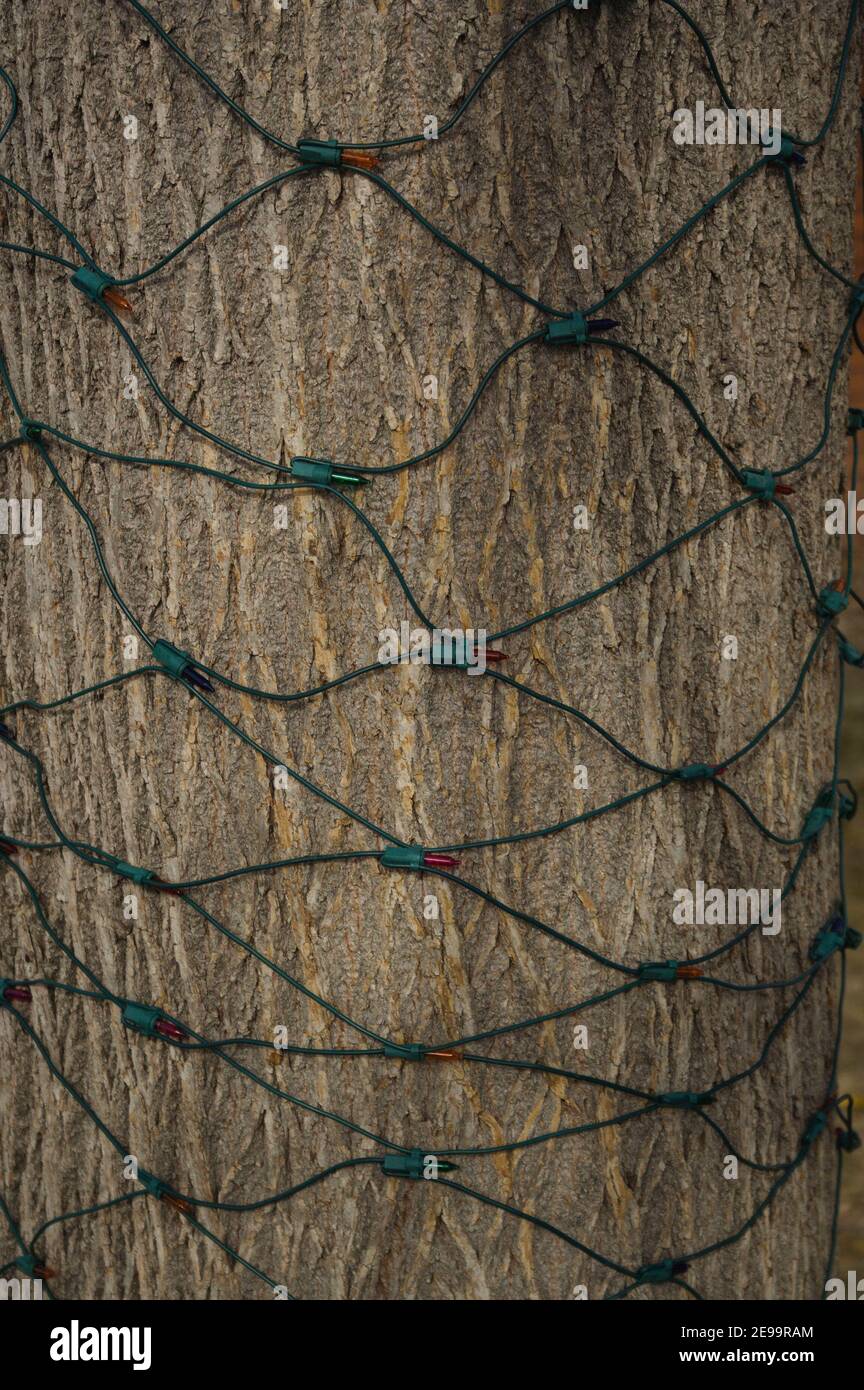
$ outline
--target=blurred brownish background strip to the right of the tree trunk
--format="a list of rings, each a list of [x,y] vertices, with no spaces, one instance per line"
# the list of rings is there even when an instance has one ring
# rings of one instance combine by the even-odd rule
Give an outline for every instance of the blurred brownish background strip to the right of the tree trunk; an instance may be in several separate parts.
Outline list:
[[[858,164],[858,189],[856,203],[856,275],[864,275],[864,177]],[[849,385],[849,403],[864,407],[864,356],[853,350]],[[864,436],[858,436],[864,445]],[[864,448],[858,450],[860,466],[864,467]],[[851,446],[849,449],[851,466]],[[858,477],[858,496],[864,495],[864,475]],[[856,582],[861,592],[864,574],[864,537],[856,538]],[[851,603],[843,614],[843,631],[851,642],[864,651],[864,610]],[[864,673],[847,667],[846,721],[843,727],[842,776],[849,777],[853,787],[864,796]],[[861,812],[847,824],[846,876],[849,887],[849,917],[858,931],[864,930],[864,799]],[[849,1091],[854,1098],[858,1133],[864,1130],[864,947],[850,951],[846,956],[849,987],[843,1012],[843,1048],[840,1052],[840,1091]],[[853,1154],[845,1163],[843,1191],[840,1195],[840,1234],[835,1273],[845,1275],[850,1269],[864,1277],[864,1162]]]

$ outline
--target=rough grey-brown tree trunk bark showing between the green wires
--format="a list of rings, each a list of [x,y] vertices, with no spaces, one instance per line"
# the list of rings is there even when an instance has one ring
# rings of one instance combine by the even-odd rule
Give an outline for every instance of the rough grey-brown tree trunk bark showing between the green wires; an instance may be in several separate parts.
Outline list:
[[[178,40],[272,129],[374,138],[445,118],[532,13],[503,0],[447,6],[188,0],[153,6]],[[693,0],[742,106],[821,124],[846,3]],[[857,75],[858,46],[853,54]],[[228,199],[286,167],[183,70],[122,3],[11,0],[0,61],[21,93],[4,170],[57,210],[115,274],[181,240]],[[593,3],[529,36],[461,126],[385,175],[439,225],[556,304],[599,297],[746,167],[743,149],[678,149],[671,114],[715,89],[693,36],[664,6]],[[815,246],[849,264],[854,78],[826,146],[799,175]],[[124,139],[122,117],[139,120]],[[8,190],[1,235],[60,239]],[[572,268],[586,243],[590,270]],[[274,246],[290,270],[272,268]],[[214,467],[225,456],[172,424],[129,368],[111,325],[57,267],[3,256],[0,339],[22,402],[94,443]],[[486,366],[542,318],[438,246],[364,179],[325,172],[267,193],[135,293],[132,325],[168,395],[194,420],[268,457],[390,463],[442,438]],[[749,182],[617,304],[621,335],[686,386],[746,467],[776,468],[818,438],[845,292],[808,260],[779,175]],[[735,373],[740,399],[724,399]],[[424,399],[422,377],[439,378]],[[139,377],[140,379],[140,377]],[[822,502],[843,467],[845,389],[829,446],[795,500],[817,581],[839,573]],[[3,403],[4,430],[13,420]],[[200,477],[54,449],[96,518],[119,589],[147,632],[236,680],[292,691],[374,660],[378,632],[410,612],[368,535],[332,499],[272,499]],[[231,461],[228,461],[231,467]],[[81,520],[29,449],[3,457],[8,496],[43,498],[44,539],[4,539],[6,698],[60,696],[124,667],[129,627],[110,600]],[[246,475],[256,475],[247,473]],[[361,505],[439,624],[493,630],[592,588],[736,495],[689,416],[636,364],[529,348],[486,392],[439,460],[378,480]],[[592,514],[574,532],[572,509]],[[789,534],[751,507],[643,575],[510,639],[508,671],[570,701],[663,764],[721,759],[792,691],[814,634]],[[738,662],[720,644],[736,634]],[[831,776],[835,659],[733,784],[795,835]],[[219,705],[292,767],[407,841],[531,830],[642,785],[646,776],[576,721],[492,681],[403,669],[279,708],[221,691]],[[56,714],[18,719],[47,767],[67,831],[165,877],[329,849],[379,848],[363,827],[267,766],[168,681],[142,678]],[[589,769],[588,790],[572,785]],[[46,838],[32,774],[0,760],[3,827]],[[825,837],[824,837],[825,838]],[[121,994],[210,1037],[346,1047],[356,1036],[172,899],[142,894],[69,853],[28,853],[57,930]],[[763,841],[718,791],[668,788],[547,840],[467,853],[463,872],[507,902],[629,962],[686,956],[731,935],[672,924],[672,892],[781,885],[792,852]],[[822,844],[779,937],[754,935],[718,966],[733,980],[792,976],[833,899]],[[3,973],[74,980],[19,885],[1,885]],[[440,919],[424,917],[435,892]],[[564,1008],[608,972],[440,881],[374,860],[242,878],[199,898],[232,930],[376,1031],[433,1041]],[[828,972],[767,1065],[714,1115],[746,1155],[795,1152],[829,1070],[836,991]],[[78,977],[75,983],[82,983]],[[699,1090],[756,1061],[788,994],[657,986],[478,1051],[532,1058],[647,1088]],[[365,1140],[268,1097],[221,1062],[129,1034],[117,1011],[39,992],[29,1016],[57,1063],[143,1166],[185,1191],[251,1201],[374,1152]],[[6,1116],[0,1190],[25,1233],[122,1193],[113,1150],[51,1081],[11,1019],[0,1023]],[[264,1066],[264,1063],[261,1063]],[[554,1077],[381,1059],[283,1059],[297,1095],[399,1143],[490,1145],[611,1116],[626,1101]],[[722,1177],[725,1145],[665,1113],[464,1161],[467,1183],[522,1205],[625,1265],[699,1248],[739,1227],[770,1186]],[[831,1145],[817,1147],[758,1226],[693,1269],[713,1298],[818,1297],[828,1243]],[[600,1298],[621,1284],[549,1234],[432,1183],[375,1168],[290,1204],[211,1213],[240,1252],[306,1298]],[[6,1237],[4,1237],[6,1240]],[[6,1251],[6,1244],[0,1255]],[[153,1201],[54,1227],[44,1241],[64,1297],[260,1298],[265,1286]],[[681,1297],[647,1289],[638,1297]]]

